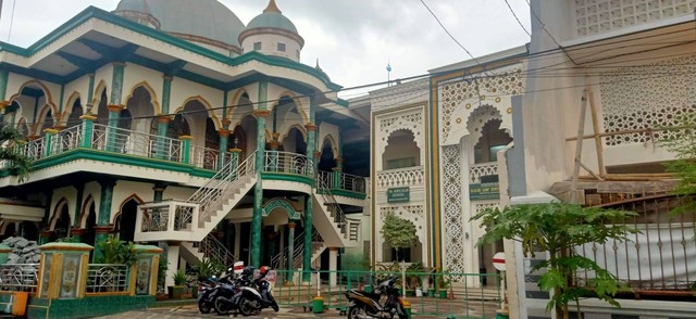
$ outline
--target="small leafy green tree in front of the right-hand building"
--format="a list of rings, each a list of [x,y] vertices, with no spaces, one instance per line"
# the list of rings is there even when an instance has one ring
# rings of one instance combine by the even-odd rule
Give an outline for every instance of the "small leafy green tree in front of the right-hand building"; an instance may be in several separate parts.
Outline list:
[[[627,241],[627,234],[637,230],[621,222],[635,215],[623,210],[550,203],[519,205],[504,210],[486,209],[472,217],[472,220],[481,220],[486,229],[486,233],[478,239],[478,245],[507,239],[521,242],[526,257],[535,252],[548,252],[548,260],[533,270],[547,269],[539,278],[538,286],[543,291],[554,290],[547,310],[555,308],[556,318],[561,319],[569,318],[570,302],[577,304],[584,297],[598,297],[619,307],[613,296],[623,284],[594,260],[573,254],[573,250],[583,244]],[[588,278],[583,285],[573,282],[577,271],[589,271],[595,277]]]

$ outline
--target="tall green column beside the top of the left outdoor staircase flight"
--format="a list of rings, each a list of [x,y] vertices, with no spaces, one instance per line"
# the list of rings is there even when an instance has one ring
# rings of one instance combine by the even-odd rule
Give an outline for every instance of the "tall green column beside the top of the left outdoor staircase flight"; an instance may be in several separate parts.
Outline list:
[[[257,184],[253,189],[253,216],[251,217],[251,266],[259,268],[261,266],[261,221],[263,208],[263,186],[261,173],[263,169],[263,160],[265,152],[265,118],[270,112],[265,110],[268,82],[259,82],[259,110],[253,111],[257,117],[257,156],[256,173]]]

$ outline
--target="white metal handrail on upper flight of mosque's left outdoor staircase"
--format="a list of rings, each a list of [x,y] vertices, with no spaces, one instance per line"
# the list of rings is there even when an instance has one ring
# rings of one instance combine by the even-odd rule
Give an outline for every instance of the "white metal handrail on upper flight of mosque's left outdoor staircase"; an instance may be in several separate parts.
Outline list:
[[[229,191],[234,181],[238,180],[243,176],[252,175],[254,173],[254,156],[256,152],[251,153],[239,165],[234,166],[233,161],[229,161],[211,177],[206,184],[199,188],[190,197],[189,202],[194,202],[200,205],[198,213],[198,221],[206,220],[206,218],[214,212],[212,207],[225,199],[225,194]]]

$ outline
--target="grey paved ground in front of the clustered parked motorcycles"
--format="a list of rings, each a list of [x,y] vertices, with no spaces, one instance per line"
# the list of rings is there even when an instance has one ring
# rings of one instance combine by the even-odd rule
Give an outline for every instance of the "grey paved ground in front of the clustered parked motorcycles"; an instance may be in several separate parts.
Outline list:
[[[231,315],[229,317],[234,317]],[[241,315],[238,316],[243,318]],[[202,315],[198,312],[198,307],[195,305],[176,306],[171,308],[150,308],[147,310],[128,311],[119,315],[112,315],[101,317],[103,319],[130,319],[130,318],[157,318],[157,319],[194,319],[194,318],[223,318],[217,316],[215,311],[209,315]],[[278,312],[274,312],[272,309],[264,309],[259,316],[252,316],[247,318],[326,318],[338,319],[346,318],[346,316],[339,316],[336,310],[327,310],[325,314],[314,315],[312,312],[303,312],[302,308],[281,308]]]

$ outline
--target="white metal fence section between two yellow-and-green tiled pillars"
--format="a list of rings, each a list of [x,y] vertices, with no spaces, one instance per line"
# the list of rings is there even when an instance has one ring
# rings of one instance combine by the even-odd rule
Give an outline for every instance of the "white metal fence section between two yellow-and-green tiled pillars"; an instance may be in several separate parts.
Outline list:
[[[87,294],[127,292],[128,266],[116,264],[87,266]]]

